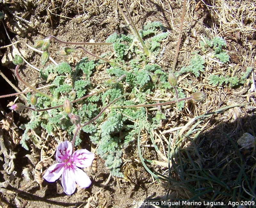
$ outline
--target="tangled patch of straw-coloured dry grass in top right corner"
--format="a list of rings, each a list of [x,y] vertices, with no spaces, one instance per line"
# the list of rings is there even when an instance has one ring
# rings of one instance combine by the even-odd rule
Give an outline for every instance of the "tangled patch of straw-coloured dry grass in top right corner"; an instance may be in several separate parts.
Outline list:
[[[202,0],[202,2],[204,2]],[[205,4],[205,3],[204,3]],[[245,43],[255,37],[256,1],[212,1],[205,4],[212,17],[213,36],[231,36]]]

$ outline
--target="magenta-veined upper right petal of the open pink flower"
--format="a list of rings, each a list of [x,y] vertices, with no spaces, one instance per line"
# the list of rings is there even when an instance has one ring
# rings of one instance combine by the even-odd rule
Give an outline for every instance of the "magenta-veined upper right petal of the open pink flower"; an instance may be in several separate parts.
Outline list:
[[[87,168],[92,164],[94,160],[94,154],[87,149],[76,150],[72,154],[72,162],[79,168]]]

